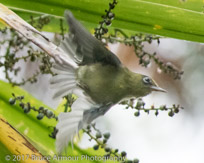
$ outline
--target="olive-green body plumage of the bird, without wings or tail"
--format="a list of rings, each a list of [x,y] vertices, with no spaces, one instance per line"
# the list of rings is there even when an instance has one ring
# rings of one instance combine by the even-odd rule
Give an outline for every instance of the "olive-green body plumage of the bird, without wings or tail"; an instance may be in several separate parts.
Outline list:
[[[131,72],[124,66],[100,63],[80,66],[77,71],[81,87],[95,102],[101,104],[115,104],[125,98],[149,94],[150,86],[144,84],[143,77],[144,75]]]

